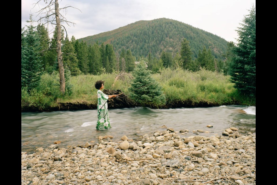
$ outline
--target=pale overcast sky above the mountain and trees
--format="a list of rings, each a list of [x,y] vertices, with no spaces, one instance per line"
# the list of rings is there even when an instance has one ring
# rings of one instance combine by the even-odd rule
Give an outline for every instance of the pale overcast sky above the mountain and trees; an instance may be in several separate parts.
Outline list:
[[[21,27],[28,25],[29,14],[36,13],[46,4],[43,0],[21,0]],[[140,20],[170,18],[237,43],[237,27],[244,15],[249,14],[255,0],[59,0],[59,8],[68,21],[65,25],[69,38],[76,39],[111,31]],[[33,9],[32,9],[33,8]],[[80,12],[81,10],[81,12]],[[52,29],[52,28],[49,28]]]

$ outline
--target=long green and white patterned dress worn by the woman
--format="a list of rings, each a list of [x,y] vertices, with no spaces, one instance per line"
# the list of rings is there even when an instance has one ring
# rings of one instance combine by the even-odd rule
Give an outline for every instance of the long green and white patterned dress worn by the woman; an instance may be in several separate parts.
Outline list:
[[[108,113],[108,95],[105,95],[104,92],[101,90],[97,91],[97,97],[98,97],[98,104],[97,104],[97,125],[96,129],[97,130],[105,130],[105,129],[110,129],[111,124],[110,124],[110,119],[109,119],[109,113]]]

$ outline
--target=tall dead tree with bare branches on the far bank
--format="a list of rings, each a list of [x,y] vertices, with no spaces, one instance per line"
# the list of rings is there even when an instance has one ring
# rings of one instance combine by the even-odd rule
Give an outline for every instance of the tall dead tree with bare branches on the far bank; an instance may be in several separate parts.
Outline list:
[[[35,5],[39,6],[39,2],[42,0],[39,0]],[[63,57],[62,57],[62,52],[61,52],[61,26],[64,28],[66,37],[67,37],[67,32],[65,27],[61,24],[61,22],[66,23],[68,26],[70,26],[68,23],[72,23],[70,21],[67,21],[66,18],[60,14],[61,10],[65,10],[66,8],[72,7],[72,6],[66,6],[64,8],[59,8],[59,3],[58,0],[44,0],[46,3],[46,6],[44,8],[41,8],[38,12],[36,12],[40,18],[38,19],[38,22],[44,21],[42,25],[55,25],[55,30],[57,31],[57,38],[54,38],[57,40],[57,60],[58,60],[58,65],[59,65],[59,78],[60,78],[60,91],[62,93],[65,92],[65,78],[64,78],[64,68],[63,68]],[[35,7],[34,5],[34,7]],[[72,7],[74,8],[74,7]],[[78,9],[78,8],[76,8]],[[79,9],[78,9],[79,10]],[[75,23],[72,23],[73,26]],[[49,48],[51,49],[51,48]]]

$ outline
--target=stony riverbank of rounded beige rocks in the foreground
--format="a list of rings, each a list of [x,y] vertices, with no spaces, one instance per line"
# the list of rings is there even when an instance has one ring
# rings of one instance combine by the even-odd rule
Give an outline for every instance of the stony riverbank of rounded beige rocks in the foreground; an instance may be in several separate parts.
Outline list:
[[[209,126],[209,125],[208,125]],[[253,129],[255,131],[255,129]],[[141,139],[99,137],[98,143],[57,144],[21,152],[21,184],[256,184],[256,134],[235,127],[210,137],[166,128]]]

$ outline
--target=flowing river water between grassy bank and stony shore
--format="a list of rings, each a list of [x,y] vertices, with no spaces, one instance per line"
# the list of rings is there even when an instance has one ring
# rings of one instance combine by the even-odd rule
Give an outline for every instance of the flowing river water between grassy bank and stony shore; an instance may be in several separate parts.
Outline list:
[[[243,113],[244,110],[246,113]],[[123,108],[109,109],[111,129],[96,130],[97,110],[22,112],[21,151],[33,153],[38,147],[48,147],[61,141],[59,147],[85,145],[98,142],[99,136],[111,135],[114,142],[126,135],[129,139],[144,134],[163,131],[166,125],[174,131],[188,129],[185,137],[199,132],[200,136],[221,135],[226,128],[237,127],[239,132],[249,132],[256,127],[255,106],[219,106],[209,108]],[[213,127],[207,127],[213,125]],[[253,132],[253,131],[252,131]],[[179,133],[180,134],[180,133]],[[182,135],[180,135],[182,136]]]

